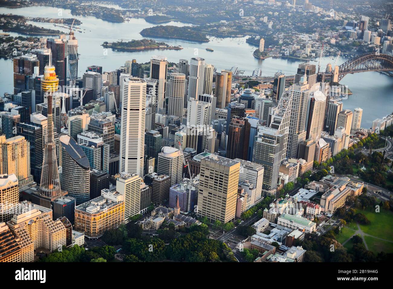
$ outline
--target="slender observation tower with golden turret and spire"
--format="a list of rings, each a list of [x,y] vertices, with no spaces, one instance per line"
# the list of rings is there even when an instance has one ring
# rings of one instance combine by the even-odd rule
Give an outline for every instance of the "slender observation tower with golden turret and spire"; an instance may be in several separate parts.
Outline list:
[[[53,198],[61,194],[59,171],[56,158],[56,144],[53,136],[52,101],[53,92],[57,91],[59,79],[56,77],[55,67],[51,60],[45,66],[44,78],[41,79],[42,90],[45,91],[48,104],[48,135],[44,146],[44,159],[42,161],[42,172],[40,182],[41,195]]]

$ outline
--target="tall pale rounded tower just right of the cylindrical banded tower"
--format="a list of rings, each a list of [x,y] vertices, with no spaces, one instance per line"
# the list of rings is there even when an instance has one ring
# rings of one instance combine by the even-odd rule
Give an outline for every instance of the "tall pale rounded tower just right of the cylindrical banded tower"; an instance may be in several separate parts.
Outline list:
[[[187,88],[187,101],[198,99],[203,94],[205,78],[205,60],[200,57],[191,58]]]

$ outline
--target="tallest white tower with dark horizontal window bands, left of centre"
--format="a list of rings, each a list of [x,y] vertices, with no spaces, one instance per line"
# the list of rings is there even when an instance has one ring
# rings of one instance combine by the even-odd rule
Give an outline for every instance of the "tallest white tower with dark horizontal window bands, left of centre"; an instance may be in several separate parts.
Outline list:
[[[146,81],[124,80],[120,133],[120,172],[143,176]]]

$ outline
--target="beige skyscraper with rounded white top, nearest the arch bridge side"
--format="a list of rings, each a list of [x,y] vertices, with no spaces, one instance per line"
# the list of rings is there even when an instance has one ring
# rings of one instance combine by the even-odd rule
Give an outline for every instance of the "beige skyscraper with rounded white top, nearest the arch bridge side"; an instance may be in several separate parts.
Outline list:
[[[320,139],[325,121],[325,106],[326,96],[321,91],[315,91],[314,95],[310,96],[306,139],[316,142]]]

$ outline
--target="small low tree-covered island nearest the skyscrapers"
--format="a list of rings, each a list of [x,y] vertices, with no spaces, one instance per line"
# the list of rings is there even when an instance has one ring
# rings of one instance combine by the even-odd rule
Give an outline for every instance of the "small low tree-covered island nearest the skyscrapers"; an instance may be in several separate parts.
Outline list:
[[[142,40],[131,40],[128,42],[107,42],[105,41],[101,44],[105,48],[112,48],[116,50],[127,50],[127,51],[140,51],[140,50],[148,50],[148,49],[174,49],[180,50],[183,49],[180,46],[171,46],[166,44],[165,42],[156,42],[152,39],[142,39]]]

